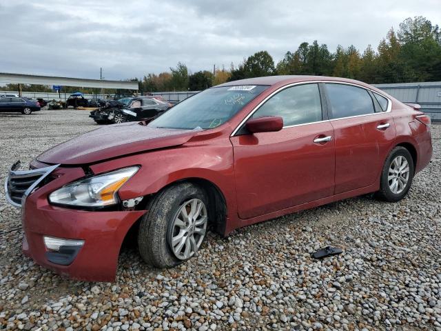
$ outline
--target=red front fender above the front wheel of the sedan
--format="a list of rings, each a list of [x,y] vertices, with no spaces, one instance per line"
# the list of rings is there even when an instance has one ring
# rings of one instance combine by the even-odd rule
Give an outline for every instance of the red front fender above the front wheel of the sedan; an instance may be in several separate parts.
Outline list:
[[[130,165],[141,165],[138,172],[119,190],[122,200],[154,194],[184,179],[205,179],[216,185],[225,197],[227,210],[234,214],[234,162],[231,144],[180,146],[121,157],[91,165],[94,174]]]

